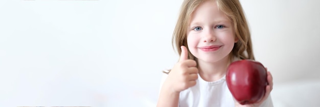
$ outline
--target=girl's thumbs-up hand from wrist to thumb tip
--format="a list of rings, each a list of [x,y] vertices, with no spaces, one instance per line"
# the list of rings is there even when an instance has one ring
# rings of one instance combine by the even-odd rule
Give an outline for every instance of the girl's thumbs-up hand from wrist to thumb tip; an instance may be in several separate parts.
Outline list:
[[[185,46],[181,46],[181,55],[179,62],[175,64],[164,86],[172,92],[184,91],[196,84],[198,79],[198,69],[196,61],[188,59],[188,50]]]

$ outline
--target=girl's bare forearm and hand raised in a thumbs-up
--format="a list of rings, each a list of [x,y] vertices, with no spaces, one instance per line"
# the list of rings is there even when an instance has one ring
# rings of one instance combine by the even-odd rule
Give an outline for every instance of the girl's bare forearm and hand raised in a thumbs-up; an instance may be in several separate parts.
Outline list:
[[[198,69],[196,61],[188,59],[188,50],[181,46],[179,62],[165,74],[161,86],[157,107],[177,107],[179,105],[180,92],[196,84],[198,79]]]

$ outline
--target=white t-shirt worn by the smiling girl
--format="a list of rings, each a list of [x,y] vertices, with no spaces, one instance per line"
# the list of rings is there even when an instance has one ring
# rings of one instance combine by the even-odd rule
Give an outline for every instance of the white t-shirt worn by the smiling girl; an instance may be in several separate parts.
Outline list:
[[[163,74],[162,82],[165,81],[168,74]],[[180,92],[179,106],[181,107],[212,107],[235,106],[235,102],[231,92],[229,91],[225,76],[213,82],[203,80],[199,74],[196,85]],[[260,107],[273,107],[271,97],[269,97],[260,105]]]

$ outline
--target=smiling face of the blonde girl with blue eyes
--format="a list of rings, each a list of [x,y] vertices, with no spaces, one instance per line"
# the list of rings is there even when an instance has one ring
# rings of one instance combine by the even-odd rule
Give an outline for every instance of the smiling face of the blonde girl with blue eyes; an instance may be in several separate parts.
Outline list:
[[[215,1],[206,1],[193,12],[187,36],[190,52],[205,62],[226,59],[236,42],[231,21]]]

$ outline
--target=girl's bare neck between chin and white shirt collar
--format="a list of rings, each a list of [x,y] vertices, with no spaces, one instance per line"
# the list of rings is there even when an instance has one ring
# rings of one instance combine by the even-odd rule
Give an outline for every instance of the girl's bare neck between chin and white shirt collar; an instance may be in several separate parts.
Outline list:
[[[230,63],[230,55],[216,62],[205,62],[198,60],[198,69],[200,77],[205,81],[216,81],[221,79],[225,73],[228,64]]]

